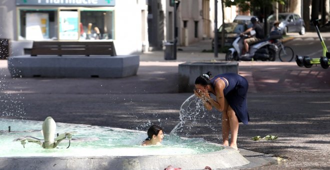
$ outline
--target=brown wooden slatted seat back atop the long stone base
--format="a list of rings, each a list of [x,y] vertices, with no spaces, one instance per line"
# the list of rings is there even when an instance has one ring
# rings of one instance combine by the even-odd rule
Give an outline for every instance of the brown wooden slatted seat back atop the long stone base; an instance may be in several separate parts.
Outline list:
[[[117,55],[113,41],[33,41],[30,52],[31,56]]]

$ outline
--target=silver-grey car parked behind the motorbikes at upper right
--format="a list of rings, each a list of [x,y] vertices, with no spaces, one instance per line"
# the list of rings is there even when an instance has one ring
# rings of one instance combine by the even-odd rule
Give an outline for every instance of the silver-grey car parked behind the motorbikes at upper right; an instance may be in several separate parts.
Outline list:
[[[267,18],[270,27],[276,20],[275,14]],[[298,32],[300,35],[305,34],[305,23],[299,15],[295,13],[278,13],[280,32],[285,35],[287,32]]]

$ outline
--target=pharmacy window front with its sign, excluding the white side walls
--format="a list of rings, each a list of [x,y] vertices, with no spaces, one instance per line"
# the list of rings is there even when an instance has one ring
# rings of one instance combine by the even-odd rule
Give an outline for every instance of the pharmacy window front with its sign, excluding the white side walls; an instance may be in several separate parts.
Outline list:
[[[16,0],[19,40],[114,39],[115,0]]]

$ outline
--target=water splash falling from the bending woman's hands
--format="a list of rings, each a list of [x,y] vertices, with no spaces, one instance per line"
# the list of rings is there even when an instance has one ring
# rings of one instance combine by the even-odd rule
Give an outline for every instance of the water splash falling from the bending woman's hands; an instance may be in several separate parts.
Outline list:
[[[194,94],[182,103],[179,114],[180,122],[171,130],[171,138],[177,140],[179,135],[193,137],[195,134],[211,131],[219,139],[220,112],[214,111],[214,109],[207,111],[201,99]]]

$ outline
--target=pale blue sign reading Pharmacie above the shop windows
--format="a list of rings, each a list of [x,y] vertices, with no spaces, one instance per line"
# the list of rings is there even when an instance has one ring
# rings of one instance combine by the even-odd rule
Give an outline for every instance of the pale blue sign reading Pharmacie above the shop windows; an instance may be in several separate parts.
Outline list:
[[[16,0],[16,5],[114,6],[115,0]]]

